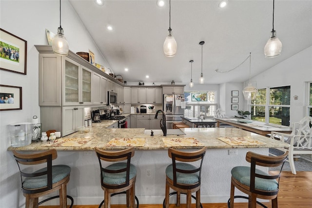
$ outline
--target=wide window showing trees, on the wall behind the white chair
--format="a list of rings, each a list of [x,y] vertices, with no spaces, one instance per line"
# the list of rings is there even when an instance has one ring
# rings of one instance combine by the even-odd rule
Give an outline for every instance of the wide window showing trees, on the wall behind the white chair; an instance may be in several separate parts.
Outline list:
[[[290,93],[290,86],[258,89],[251,102],[251,119],[289,126]]]

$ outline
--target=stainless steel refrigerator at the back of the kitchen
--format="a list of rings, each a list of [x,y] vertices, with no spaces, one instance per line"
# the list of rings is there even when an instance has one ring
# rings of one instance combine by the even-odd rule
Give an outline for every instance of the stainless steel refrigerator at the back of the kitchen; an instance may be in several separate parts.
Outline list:
[[[163,96],[163,111],[166,113],[166,126],[167,128],[172,128],[172,123],[181,122],[181,116],[184,116],[184,94],[164,94]]]

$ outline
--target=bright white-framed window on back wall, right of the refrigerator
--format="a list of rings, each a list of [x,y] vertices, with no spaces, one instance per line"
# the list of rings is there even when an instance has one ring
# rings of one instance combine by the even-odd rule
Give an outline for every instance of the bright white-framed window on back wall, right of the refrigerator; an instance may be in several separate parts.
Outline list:
[[[217,107],[215,95],[215,91],[184,92],[186,102],[184,116],[188,118],[214,117]]]

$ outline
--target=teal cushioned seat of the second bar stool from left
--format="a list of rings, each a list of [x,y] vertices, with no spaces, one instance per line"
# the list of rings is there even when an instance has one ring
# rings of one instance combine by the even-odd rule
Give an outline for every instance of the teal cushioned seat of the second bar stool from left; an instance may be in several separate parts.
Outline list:
[[[127,163],[115,163],[115,164],[105,167],[105,169],[118,170],[118,169],[122,169],[126,167],[127,167]],[[136,175],[137,175],[136,166],[130,164],[129,180],[133,179]],[[121,172],[121,173],[103,172],[103,183],[105,184],[123,184],[125,182],[126,182],[126,171]]]

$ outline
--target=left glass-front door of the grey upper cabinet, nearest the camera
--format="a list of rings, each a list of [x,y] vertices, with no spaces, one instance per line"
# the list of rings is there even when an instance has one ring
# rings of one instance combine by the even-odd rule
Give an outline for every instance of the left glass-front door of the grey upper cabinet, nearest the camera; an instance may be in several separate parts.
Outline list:
[[[63,62],[64,69],[64,87],[63,102],[64,105],[79,104],[79,77],[80,64],[65,58]]]

